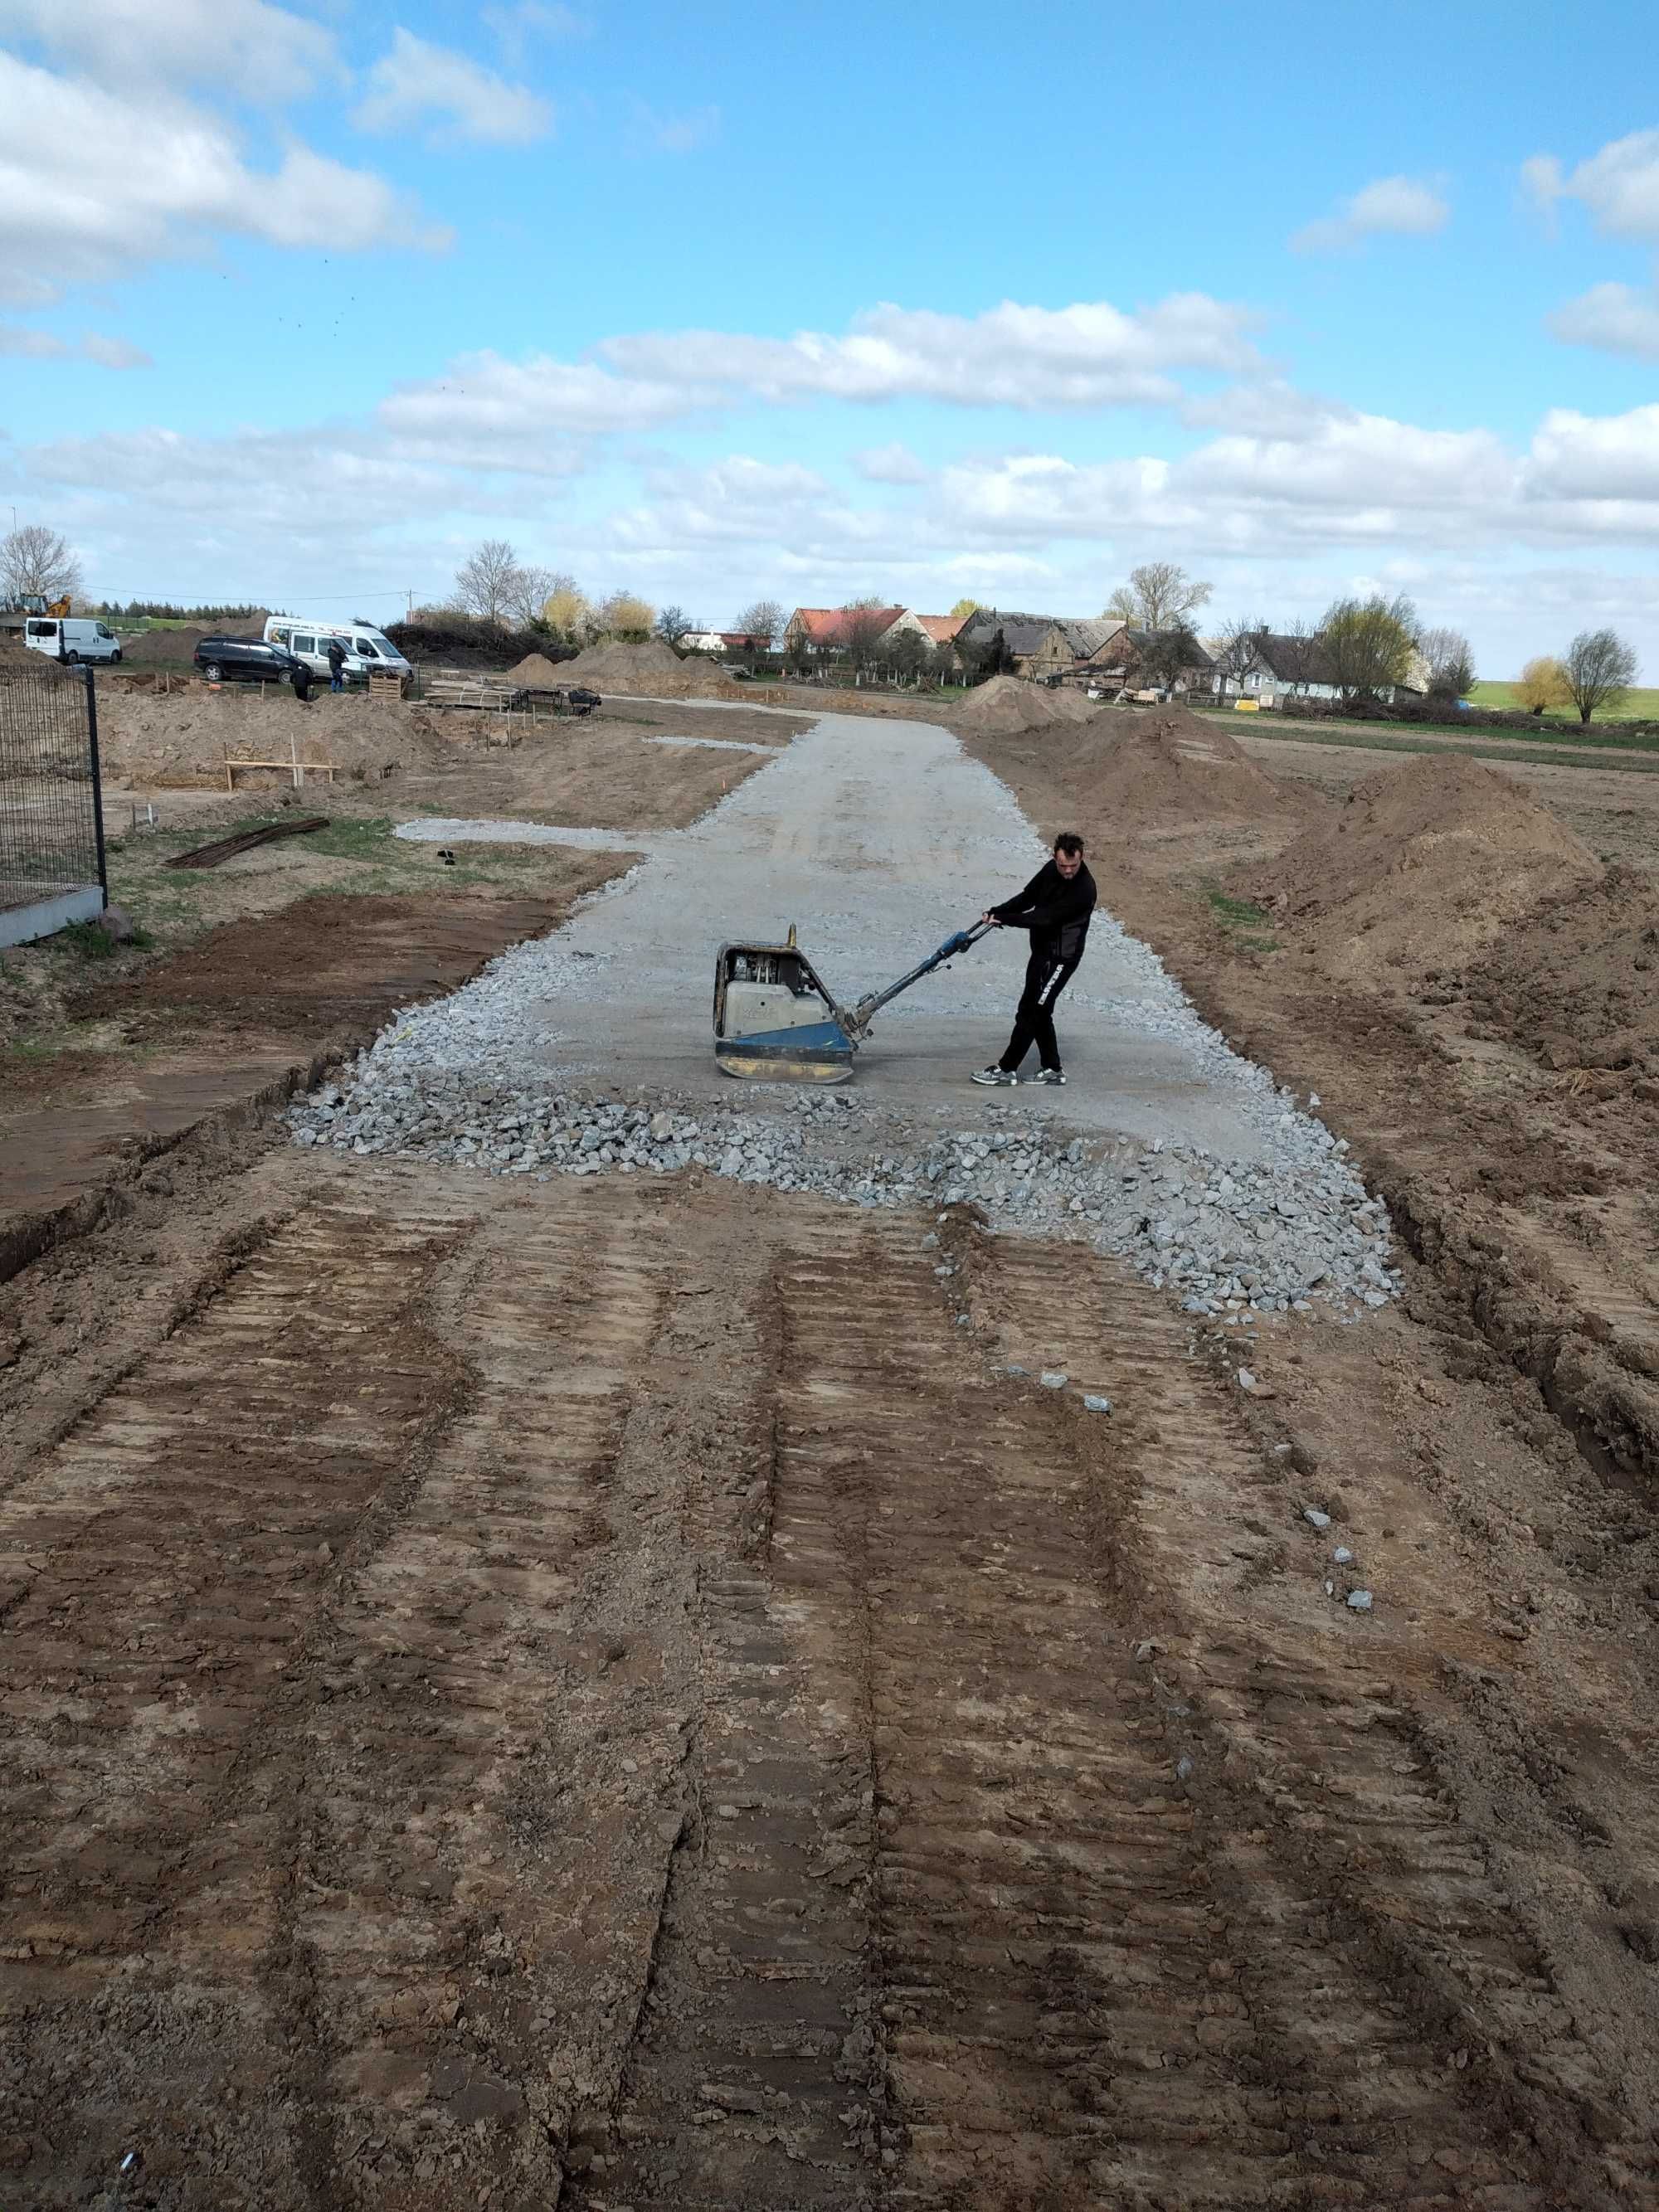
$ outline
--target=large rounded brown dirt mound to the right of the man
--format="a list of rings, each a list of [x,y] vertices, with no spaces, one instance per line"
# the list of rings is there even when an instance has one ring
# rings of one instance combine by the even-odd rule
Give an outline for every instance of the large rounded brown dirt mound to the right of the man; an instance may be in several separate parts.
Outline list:
[[[1460,754],[1358,783],[1252,889],[1316,933],[1332,975],[1416,982],[1478,960],[1542,900],[1601,863],[1548,807]]]

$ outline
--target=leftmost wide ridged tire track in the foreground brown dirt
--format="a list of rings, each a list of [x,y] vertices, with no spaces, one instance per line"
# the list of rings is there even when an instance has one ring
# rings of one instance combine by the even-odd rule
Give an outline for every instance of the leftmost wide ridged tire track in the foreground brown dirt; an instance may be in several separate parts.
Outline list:
[[[257,1776],[336,1562],[449,1418],[458,1376],[418,1305],[460,1230],[440,1206],[307,1206],[0,1506],[27,2201],[106,2179],[124,2106],[210,2166],[221,2110],[283,2073],[285,2006],[257,1989],[283,1807]],[[301,2152],[274,2115],[259,2135],[283,2201]]]

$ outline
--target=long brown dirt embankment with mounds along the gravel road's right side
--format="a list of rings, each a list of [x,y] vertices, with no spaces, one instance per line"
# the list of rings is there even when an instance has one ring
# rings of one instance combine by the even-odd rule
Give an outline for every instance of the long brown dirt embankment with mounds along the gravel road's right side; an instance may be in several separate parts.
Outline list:
[[[1135,818],[1082,748],[964,739],[1040,823],[1082,830],[1104,902],[1206,1018],[1321,1097],[1528,1418],[1659,1482],[1659,1040],[1637,969],[1659,918],[1464,761],[1418,757],[1352,810],[1265,779],[1237,810]]]

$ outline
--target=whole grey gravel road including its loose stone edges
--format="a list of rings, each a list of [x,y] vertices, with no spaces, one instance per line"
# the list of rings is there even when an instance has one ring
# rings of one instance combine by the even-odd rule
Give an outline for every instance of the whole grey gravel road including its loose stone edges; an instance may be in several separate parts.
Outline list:
[[[1062,825],[1055,825],[1062,827]],[[690,830],[411,823],[458,841],[606,843],[648,858],[553,938],[394,1022],[296,1137],[509,1175],[664,1172],[863,1206],[975,1199],[1006,1228],[1088,1237],[1192,1312],[1248,1318],[1398,1287],[1389,1223],[1318,1119],[1208,1029],[1157,956],[1099,914],[1060,1006],[1064,1091],[980,1093],[1024,933],[898,1000],[845,1093],[723,1079],[721,940],[787,922],[832,989],[889,980],[1006,896],[1044,843],[989,770],[927,723],[825,717]]]

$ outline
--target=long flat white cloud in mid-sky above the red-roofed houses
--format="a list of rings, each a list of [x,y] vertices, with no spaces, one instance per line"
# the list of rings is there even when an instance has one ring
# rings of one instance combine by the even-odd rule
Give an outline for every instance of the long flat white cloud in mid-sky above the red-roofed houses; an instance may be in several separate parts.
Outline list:
[[[1133,314],[1106,301],[978,316],[872,307],[845,336],[748,338],[712,330],[611,338],[599,352],[635,376],[726,385],[765,400],[933,398],[962,407],[1102,407],[1179,398],[1170,369],[1256,365],[1256,316],[1203,292]]]

